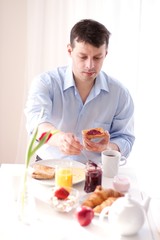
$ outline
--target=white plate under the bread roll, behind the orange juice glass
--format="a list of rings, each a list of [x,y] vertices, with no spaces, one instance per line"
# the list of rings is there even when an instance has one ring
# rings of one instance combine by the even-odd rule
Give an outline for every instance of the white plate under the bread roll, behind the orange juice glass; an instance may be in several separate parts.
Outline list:
[[[35,164],[41,164],[49,167],[55,167],[59,164],[62,163],[62,161],[65,162],[70,162],[73,166],[73,184],[80,183],[85,180],[85,165],[83,163],[74,161],[72,159],[49,159],[49,160],[40,160],[38,162],[35,162]],[[34,163],[32,164],[32,166]],[[49,179],[49,180],[38,180],[34,179],[35,181],[38,181],[41,184],[48,185],[48,186],[54,186],[55,185],[55,180],[54,179]]]

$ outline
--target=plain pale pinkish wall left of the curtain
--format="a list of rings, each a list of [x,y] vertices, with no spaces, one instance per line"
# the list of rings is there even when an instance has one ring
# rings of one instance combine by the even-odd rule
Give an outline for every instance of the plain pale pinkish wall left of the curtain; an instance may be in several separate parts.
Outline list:
[[[0,163],[24,162],[26,41],[27,0],[0,0]]]

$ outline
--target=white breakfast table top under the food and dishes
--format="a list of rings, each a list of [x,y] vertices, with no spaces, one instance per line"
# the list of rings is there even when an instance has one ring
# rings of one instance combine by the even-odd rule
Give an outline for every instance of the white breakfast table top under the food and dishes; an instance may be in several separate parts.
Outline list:
[[[30,178],[32,193],[35,200],[33,209],[34,219],[30,224],[24,224],[18,220],[17,196],[20,186],[24,164],[1,164],[0,167],[0,239],[47,239],[47,240],[158,240],[159,234],[153,224],[150,211],[145,215],[145,222],[140,231],[133,236],[122,237],[110,229],[107,218],[103,222],[95,216],[88,226],[82,227],[75,217],[75,209],[69,213],[55,211],[46,201],[45,197],[51,186],[41,184]],[[131,186],[129,193],[133,199],[143,202],[145,193],[138,187],[136,173],[133,168],[123,166],[119,169],[120,174],[130,178]],[[113,179],[103,177],[102,186],[113,188]],[[74,185],[80,192],[80,197],[85,196],[84,181]],[[34,214],[35,213],[35,214]],[[130,219],[132,216],[128,216]]]

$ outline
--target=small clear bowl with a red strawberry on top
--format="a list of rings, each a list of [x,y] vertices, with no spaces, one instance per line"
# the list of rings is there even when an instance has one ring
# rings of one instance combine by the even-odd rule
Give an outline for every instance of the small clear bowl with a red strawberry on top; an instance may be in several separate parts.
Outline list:
[[[62,187],[55,187],[52,189],[50,205],[58,212],[70,212],[78,205],[79,191],[75,188],[67,187],[66,191],[68,192],[68,196],[65,196],[64,191],[65,190]]]

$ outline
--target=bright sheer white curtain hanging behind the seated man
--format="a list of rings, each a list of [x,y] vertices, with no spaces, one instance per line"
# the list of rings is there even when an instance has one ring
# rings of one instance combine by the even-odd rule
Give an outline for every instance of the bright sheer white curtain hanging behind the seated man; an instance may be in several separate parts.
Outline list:
[[[152,195],[156,194],[152,185],[160,175],[159,2],[28,0],[26,92],[35,75],[68,63],[66,46],[70,29],[77,21],[93,18],[112,33],[103,69],[124,83],[135,101],[136,142],[129,164],[136,168],[144,190]]]

